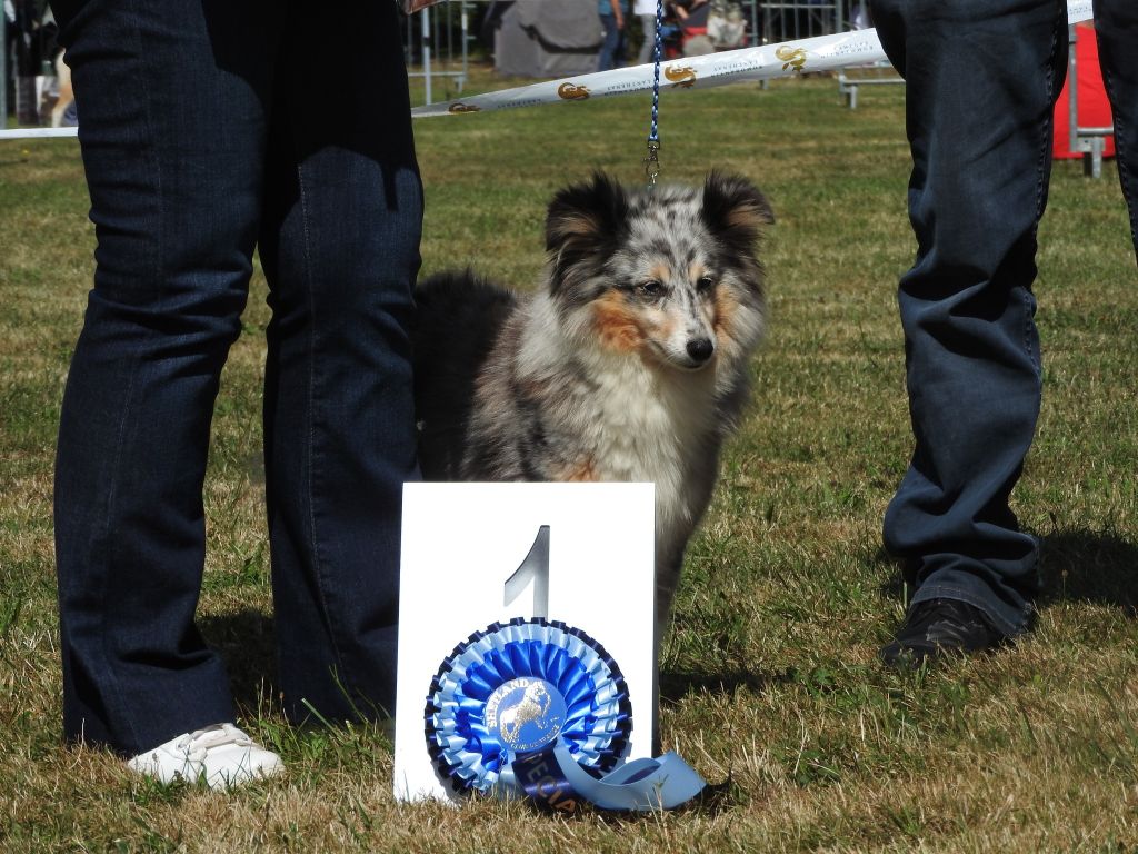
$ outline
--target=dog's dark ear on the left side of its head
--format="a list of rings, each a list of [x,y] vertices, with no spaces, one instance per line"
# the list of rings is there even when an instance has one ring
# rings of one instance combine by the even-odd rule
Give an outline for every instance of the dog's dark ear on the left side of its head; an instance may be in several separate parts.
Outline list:
[[[611,253],[628,216],[628,196],[603,172],[594,172],[589,183],[578,183],[558,192],[545,216],[545,249],[553,265],[552,287],[582,261],[597,262]]]

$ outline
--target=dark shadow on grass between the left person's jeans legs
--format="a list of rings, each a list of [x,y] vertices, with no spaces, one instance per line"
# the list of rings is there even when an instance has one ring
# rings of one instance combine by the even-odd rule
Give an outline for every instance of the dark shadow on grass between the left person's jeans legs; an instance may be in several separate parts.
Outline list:
[[[239,709],[256,713],[266,699],[277,697],[277,652],[271,614],[246,608],[232,614],[204,616],[199,618],[198,627],[225,663],[230,690]]]

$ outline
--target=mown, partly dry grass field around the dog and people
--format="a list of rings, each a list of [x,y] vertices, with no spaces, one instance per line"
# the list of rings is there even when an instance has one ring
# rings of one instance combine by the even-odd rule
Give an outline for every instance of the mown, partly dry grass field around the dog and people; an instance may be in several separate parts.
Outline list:
[[[203,631],[283,781],[163,788],[59,742],[51,467],[91,278],[73,140],[0,143],[0,849],[1138,849],[1138,280],[1112,164],[1058,164],[1041,228],[1045,407],[1015,495],[1045,545],[1036,631],[998,655],[875,662],[905,590],[880,520],[910,452],[896,280],[913,254],[902,95],[832,80],[668,93],[663,178],[761,186],[770,335],[692,545],[662,663],[666,746],[714,807],[611,819],[399,805],[378,731],[283,724],[272,697],[259,467],[267,310],[255,278],[207,482]],[[428,120],[424,271],[528,287],[544,204],[603,167],[641,178],[646,97]]]

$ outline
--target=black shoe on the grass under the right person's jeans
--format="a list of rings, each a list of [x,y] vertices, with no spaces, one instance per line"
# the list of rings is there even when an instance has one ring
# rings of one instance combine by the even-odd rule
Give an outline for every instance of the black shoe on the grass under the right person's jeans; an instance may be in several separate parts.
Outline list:
[[[958,599],[929,599],[909,609],[897,637],[881,648],[881,659],[890,667],[916,667],[1006,642],[1007,637],[979,608]]]

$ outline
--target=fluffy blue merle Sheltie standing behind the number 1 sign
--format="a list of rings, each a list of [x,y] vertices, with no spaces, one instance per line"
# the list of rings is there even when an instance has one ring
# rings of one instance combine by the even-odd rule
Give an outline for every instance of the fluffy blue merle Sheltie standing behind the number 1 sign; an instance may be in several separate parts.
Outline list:
[[[534,295],[469,270],[415,289],[424,478],[654,482],[658,640],[748,399],[773,222],[743,178],[630,190],[596,173],[550,204]]]

